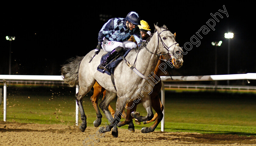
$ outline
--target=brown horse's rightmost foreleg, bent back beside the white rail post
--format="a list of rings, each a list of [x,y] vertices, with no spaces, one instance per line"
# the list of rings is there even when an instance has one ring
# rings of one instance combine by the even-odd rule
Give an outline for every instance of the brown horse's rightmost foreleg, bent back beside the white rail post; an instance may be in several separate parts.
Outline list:
[[[152,132],[155,130],[155,128],[158,126],[158,124],[161,122],[162,118],[163,118],[163,105],[160,104],[160,100],[159,100],[159,97],[158,98],[153,98],[152,99],[152,102],[154,104],[152,104],[152,107],[154,108],[154,110],[156,111],[156,114],[157,114],[157,118],[156,118],[156,121],[155,123],[150,126],[149,128],[148,127],[144,127],[141,129],[141,132],[142,133],[148,133],[148,132]],[[162,107],[161,107],[162,105]]]

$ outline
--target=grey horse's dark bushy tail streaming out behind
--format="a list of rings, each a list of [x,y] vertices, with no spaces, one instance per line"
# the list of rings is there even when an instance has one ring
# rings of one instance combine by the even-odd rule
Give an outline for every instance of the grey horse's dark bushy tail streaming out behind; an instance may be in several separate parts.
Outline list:
[[[63,80],[69,87],[74,87],[78,85],[78,71],[81,61],[84,57],[76,56],[76,58],[71,58],[67,64],[62,65],[61,75],[63,76]]]

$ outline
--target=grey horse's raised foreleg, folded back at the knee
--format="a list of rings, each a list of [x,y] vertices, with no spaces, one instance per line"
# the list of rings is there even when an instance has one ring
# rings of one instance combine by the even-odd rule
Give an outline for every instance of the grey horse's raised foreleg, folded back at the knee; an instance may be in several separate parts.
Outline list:
[[[141,102],[148,113],[147,116],[145,116],[145,117],[140,116],[139,113],[137,113],[137,112],[132,112],[131,116],[133,118],[136,118],[139,122],[151,120],[153,118],[154,114],[153,114],[153,111],[151,108],[150,95],[147,94],[143,98],[141,98]]]

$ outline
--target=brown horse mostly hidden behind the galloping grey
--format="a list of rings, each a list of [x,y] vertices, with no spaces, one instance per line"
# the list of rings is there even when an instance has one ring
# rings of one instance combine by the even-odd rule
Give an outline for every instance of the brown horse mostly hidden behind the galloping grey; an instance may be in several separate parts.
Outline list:
[[[159,65],[164,63],[163,59],[169,61],[170,56],[166,56],[166,55],[165,55],[165,57],[160,56],[160,59],[158,60],[158,64],[157,64],[157,66],[156,66],[156,68],[154,70],[154,74],[158,78],[160,78],[160,74],[161,74],[161,69],[159,68]],[[183,65],[183,60],[179,60],[179,61],[181,61],[181,63],[179,62],[179,65],[176,65],[175,60],[172,59],[172,64],[175,66],[175,68],[180,68]],[[102,118],[102,115],[101,115],[100,110],[98,108],[98,98],[99,98],[99,96],[102,93],[103,93],[103,98],[104,98],[106,91],[105,91],[105,89],[103,87],[101,87],[97,83],[97,81],[95,82],[93,87],[94,87],[94,94],[91,96],[91,102],[92,102],[92,105],[93,105],[93,107],[94,107],[94,109],[96,111],[96,114],[97,114],[97,119],[94,121],[94,127],[98,127],[101,124],[101,118]],[[162,111],[163,111],[164,107],[163,107],[163,105],[161,103],[161,100],[159,98],[159,95],[158,95],[158,93],[160,92],[161,88],[162,88],[162,82],[159,81],[154,86],[153,91],[150,94],[151,95],[151,101],[152,101],[152,107],[154,108],[156,113],[155,113],[154,117],[150,121],[144,121],[143,122],[144,124],[148,124],[148,123],[150,123],[152,121],[155,121],[156,119],[161,119],[162,120],[162,117],[163,117]],[[126,105],[126,107],[132,107],[133,104],[135,106],[133,106],[133,108],[131,108],[131,109],[126,108],[127,109],[127,111],[126,111],[127,114],[125,113],[125,111],[123,111],[122,114],[124,115],[123,118],[125,118],[125,121],[120,121],[117,124],[118,127],[121,127],[123,125],[128,124],[128,130],[131,131],[131,132],[134,132],[134,125],[133,125],[133,121],[132,121],[133,117],[131,116],[131,113],[133,111],[136,111],[137,104],[139,104],[139,103],[141,103],[141,101],[137,102],[137,103],[131,101],[131,102],[129,102]],[[108,110],[111,112],[112,115],[115,114],[115,110],[113,110],[113,108],[110,105],[108,106]],[[161,120],[157,120],[149,129],[147,129],[147,132],[148,131],[149,132],[154,131],[155,128],[157,127],[157,125],[160,123]],[[138,122],[137,120],[135,120],[135,122],[136,122],[136,124],[140,124],[140,122]]]

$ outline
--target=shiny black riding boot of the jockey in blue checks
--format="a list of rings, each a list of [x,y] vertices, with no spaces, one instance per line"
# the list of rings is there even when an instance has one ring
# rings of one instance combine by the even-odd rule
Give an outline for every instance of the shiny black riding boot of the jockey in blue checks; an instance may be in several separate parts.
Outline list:
[[[123,47],[116,47],[114,50],[112,50],[108,56],[105,58],[105,60],[99,65],[100,69],[105,69],[105,66],[108,65],[108,63],[114,59],[117,55],[122,53],[124,51]]]

